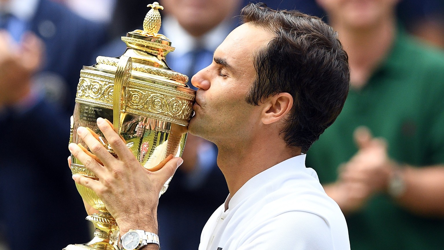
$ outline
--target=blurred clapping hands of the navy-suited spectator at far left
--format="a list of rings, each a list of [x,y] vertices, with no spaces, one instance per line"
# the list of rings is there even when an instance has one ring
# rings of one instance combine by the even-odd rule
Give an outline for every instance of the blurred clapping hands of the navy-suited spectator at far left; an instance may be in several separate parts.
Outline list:
[[[20,44],[0,31],[0,107],[13,105],[30,94],[31,77],[40,68],[44,43],[26,33]]]

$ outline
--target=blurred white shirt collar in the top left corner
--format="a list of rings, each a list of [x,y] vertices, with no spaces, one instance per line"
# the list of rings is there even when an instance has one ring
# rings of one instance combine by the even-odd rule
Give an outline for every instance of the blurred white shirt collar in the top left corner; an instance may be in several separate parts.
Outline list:
[[[8,13],[22,21],[29,21],[35,15],[39,0],[9,0],[0,4],[0,13]]]

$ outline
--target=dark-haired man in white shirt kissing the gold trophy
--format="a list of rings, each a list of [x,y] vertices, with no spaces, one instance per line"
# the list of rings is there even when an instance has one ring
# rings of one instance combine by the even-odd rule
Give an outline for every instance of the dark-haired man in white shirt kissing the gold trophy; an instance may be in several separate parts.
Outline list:
[[[218,146],[218,166],[230,190],[204,227],[199,249],[347,250],[339,207],[304,165],[305,152],[342,109],[347,55],[316,17],[262,4],[250,4],[242,14],[244,24],[191,80],[198,90],[190,133]],[[71,153],[99,177],[74,180],[103,199],[123,234],[156,234],[159,191],[182,159],[150,173],[106,121],[97,123],[119,159],[81,127],[79,137],[104,166],[71,144]],[[123,237],[127,249],[131,234]]]

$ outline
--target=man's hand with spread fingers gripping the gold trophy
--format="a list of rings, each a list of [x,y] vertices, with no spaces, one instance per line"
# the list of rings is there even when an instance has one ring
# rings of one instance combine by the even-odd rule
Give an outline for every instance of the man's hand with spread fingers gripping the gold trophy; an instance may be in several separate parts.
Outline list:
[[[80,185],[93,190],[105,203],[107,210],[116,219],[121,234],[130,229],[141,229],[157,234],[157,205],[163,184],[182,164],[176,157],[157,171],[143,168],[111,125],[102,118],[97,125],[114,149],[115,158],[103,147],[89,130],[79,127],[77,133],[103,165],[85,153],[78,145],[71,143],[69,150],[99,180],[74,174],[73,179]]]

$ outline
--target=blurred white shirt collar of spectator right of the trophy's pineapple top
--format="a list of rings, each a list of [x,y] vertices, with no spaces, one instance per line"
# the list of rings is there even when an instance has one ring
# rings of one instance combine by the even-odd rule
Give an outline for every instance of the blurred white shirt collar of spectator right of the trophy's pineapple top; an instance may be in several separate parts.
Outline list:
[[[233,28],[232,19],[226,19],[218,26],[207,32],[201,37],[191,36],[173,16],[165,16],[162,18],[163,35],[168,37],[172,42],[174,56],[183,56],[191,52],[199,41],[202,41],[203,47],[213,52],[219,44],[225,39]]]

